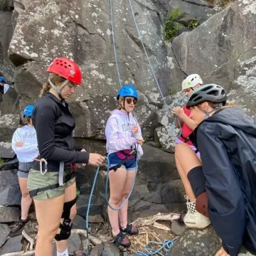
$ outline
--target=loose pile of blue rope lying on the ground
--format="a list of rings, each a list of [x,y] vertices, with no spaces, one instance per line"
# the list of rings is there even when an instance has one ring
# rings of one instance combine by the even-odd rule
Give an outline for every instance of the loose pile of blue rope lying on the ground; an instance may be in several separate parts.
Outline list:
[[[164,242],[152,242],[149,241],[146,244],[146,247],[144,248],[143,251],[138,251],[135,252],[135,255],[144,255],[144,256],[149,256],[149,255],[160,255],[160,256],[167,256],[171,250],[171,247],[174,245],[174,241],[176,240],[176,238],[172,239],[172,240],[164,240]],[[158,250],[154,250],[151,247],[149,247],[150,245],[161,245],[161,247]],[[164,254],[161,252],[164,251]]]

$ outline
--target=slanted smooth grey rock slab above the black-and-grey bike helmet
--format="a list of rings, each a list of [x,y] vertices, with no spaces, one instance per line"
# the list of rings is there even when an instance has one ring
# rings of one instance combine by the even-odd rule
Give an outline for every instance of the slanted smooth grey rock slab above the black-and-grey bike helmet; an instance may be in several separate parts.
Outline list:
[[[256,114],[255,8],[253,0],[238,0],[172,44],[183,73],[200,73],[203,82],[223,85],[229,100],[252,116]]]

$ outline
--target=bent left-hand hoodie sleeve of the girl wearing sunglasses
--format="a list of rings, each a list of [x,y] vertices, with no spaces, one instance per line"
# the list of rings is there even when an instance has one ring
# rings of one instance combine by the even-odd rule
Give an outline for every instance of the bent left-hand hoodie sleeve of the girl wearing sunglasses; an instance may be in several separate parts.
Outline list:
[[[114,117],[110,117],[107,120],[105,134],[107,137],[107,146],[112,150],[120,151],[130,149],[137,142],[133,137],[119,137],[117,120]]]

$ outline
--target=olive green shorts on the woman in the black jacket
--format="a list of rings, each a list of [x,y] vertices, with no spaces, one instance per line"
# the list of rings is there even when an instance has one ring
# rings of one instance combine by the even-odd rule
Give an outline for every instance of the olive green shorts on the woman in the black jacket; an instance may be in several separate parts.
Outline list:
[[[67,176],[69,173],[70,171],[65,170],[64,177]],[[58,171],[48,171],[46,174],[42,175],[40,171],[31,169],[28,174],[28,190],[32,191],[36,188],[44,188],[46,186],[58,184],[58,174]],[[36,196],[33,196],[33,199],[46,200],[48,198],[56,198],[58,196],[62,196],[65,193],[65,188],[68,188],[73,183],[75,183],[75,177],[71,178],[61,187],[39,192]]]

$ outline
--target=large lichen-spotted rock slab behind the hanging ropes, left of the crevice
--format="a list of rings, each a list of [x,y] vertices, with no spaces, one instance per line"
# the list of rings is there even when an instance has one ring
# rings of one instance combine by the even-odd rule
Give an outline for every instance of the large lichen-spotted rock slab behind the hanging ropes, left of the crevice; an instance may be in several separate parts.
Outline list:
[[[154,4],[134,2],[133,7],[149,58],[166,94],[169,92],[169,68],[160,38],[161,18]],[[127,2],[117,1],[113,8],[116,10],[114,22],[118,23],[114,35],[122,84],[137,86],[142,101],[136,112],[144,128],[152,122],[155,105],[161,105],[159,92]],[[114,96],[119,90],[108,15],[110,6],[102,1],[85,4],[78,0],[76,4],[69,4],[37,0],[16,11],[18,19],[9,58],[17,66],[14,80],[21,109],[38,97],[47,78],[46,66],[55,56],[73,58],[83,72],[82,87],[70,103],[77,122],[74,135],[104,139],[105,122],[117,106]]]

